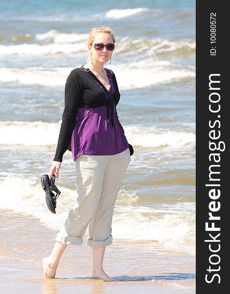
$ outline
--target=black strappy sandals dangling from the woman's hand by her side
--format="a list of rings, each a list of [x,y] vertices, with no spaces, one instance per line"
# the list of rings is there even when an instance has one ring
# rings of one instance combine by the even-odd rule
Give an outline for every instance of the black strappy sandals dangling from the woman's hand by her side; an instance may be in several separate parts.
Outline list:
[[[41,176],[41,184],[44,191],[46,192],[46,204],[48,206],[48,209],[52,213],[56,213],[56,200],[58,196],[61,194],[61,192],[55,186],[55,175],[53,175],[51,179],[49,179],[49,176],[47,174],[43,174]],[[56,196],[53,194],[52,191],[57,193]]]

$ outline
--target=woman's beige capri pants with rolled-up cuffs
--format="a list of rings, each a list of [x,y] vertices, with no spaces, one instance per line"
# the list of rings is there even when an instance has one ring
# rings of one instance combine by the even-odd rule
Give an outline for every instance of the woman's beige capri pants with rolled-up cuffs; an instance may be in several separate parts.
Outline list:
[[[82,245],[89,225],[87,245],[104,247],[112,244],[115,200],[130,161],[129,148],[115,155],[80,155],[76,158],[77,201],[56,241]]]

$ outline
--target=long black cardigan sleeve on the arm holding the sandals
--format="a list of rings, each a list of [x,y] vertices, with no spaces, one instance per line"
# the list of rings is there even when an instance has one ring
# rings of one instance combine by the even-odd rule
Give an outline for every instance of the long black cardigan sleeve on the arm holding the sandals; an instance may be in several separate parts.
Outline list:
[[[62,162],[63,154],[69,147],[77,117],[77,107],[82,95],[82,83],[78,73],[74,70],[69,74],[65,86],[65,107],[58,138],[54,161]]]

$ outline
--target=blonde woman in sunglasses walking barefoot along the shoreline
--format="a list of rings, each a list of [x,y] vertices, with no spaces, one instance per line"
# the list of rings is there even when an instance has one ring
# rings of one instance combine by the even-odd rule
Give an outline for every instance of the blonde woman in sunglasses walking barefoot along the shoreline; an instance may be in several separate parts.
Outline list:
[[[112,29],[92,28],[88,63],[71,71],[67,78],[65,108],[49,175],[55,173],[58,177],[63,154],[71,141],[77,202],[57,234],[50,256],[43,259],[44,277],[55,277],[63,251],[67,245],[82,245],[89,225],[87,245],[92,247],[92,277],[112,281],[102,262],[105,246],[112,244],[115,199],[131,154],[114,107],[120,98],[115,74],[103,67],[111,61],[114,44]]]

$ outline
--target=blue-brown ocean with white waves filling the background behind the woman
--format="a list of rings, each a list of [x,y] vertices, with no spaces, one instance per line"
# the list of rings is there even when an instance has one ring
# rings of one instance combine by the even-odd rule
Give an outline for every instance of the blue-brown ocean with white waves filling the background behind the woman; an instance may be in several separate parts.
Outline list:
[[[195,1],[1,1],[0,210],[54,234],[75,202],[64,155],[57,214],[40,177],[55,153],[70,71],[96,26],[115,33],[117,112],[135,153],[115,205],[113,237],[195,254]],[[41,236],[39,237],[41,238]]]

